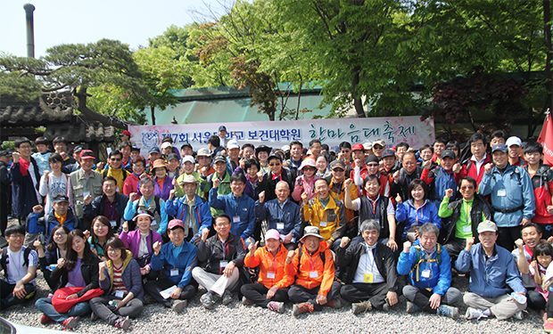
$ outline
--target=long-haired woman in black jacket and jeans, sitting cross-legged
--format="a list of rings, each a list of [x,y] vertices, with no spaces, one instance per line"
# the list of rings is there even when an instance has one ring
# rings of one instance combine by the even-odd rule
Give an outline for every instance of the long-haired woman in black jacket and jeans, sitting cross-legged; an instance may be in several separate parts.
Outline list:
[[[62,261],[51,274],[51,280],[57,282],[57,289],[63,287],[82,287],[77,293],[67,299],[75,299],[83,296],[89,289],[98,288],[98,257],[90,250],[85,234],[80,230],[69,233],[67,244],[71,245]],[[67,314],[58,313],[52,305],[52,297],[43,297],[35,303],[37,309],[43,314],[40,323],[62,323],[66,330],[77,327],[78,317],[90,313],[88,301],[77,303],[70,308]]]

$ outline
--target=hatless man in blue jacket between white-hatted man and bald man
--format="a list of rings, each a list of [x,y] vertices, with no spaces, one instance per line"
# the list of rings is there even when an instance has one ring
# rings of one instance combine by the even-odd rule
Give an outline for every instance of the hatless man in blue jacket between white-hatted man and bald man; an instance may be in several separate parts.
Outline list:
[[[232,217],[230,232],[235,236],[247,240],[252,237],[255,229],[255,202],[248,195],[243,194],[246,185],[245,176],[235,174],[230,177],[230,193],[219,194],[219,179],[213,179],[210,190],[211,208],[223,210],[225,215]],[[211,211],[212,212],[212,211]]]

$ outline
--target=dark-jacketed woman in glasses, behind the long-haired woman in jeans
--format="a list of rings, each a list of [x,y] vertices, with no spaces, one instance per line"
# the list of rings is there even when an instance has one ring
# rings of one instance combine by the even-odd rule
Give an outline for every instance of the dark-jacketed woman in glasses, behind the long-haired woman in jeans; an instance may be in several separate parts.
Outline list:
[[[37,249],[38,265],[43,273],[46,283],[52,291],[57,288],[57,281],[52,281],[51,274],[54,268],[62,261],[62,258],[67,255],[67,235],[69,229],[63,225],[57,225],[52,229],[50,240],[46,248],[43,247],[40,240],[35,240],[33,246]],[[46,250],[46,251],[45,251]]]

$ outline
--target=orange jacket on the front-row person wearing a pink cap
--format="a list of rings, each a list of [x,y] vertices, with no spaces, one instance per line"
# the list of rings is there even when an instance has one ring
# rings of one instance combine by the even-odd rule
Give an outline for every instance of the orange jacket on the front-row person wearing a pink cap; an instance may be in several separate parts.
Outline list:
[[[257,248],[253,256],[250,253],[243,259],[243,265],[249,268],[260,266],[260,278],[258,283],[265,288],[271,289],[276,286],[278,289],[287,288],[293,283],[293,275],[285,273],[285,261],[288,250],[284,246],[278,248],[276,256],[273,257],[267,246]],[[268,273],[274,273],[275,277],[268,278]]]

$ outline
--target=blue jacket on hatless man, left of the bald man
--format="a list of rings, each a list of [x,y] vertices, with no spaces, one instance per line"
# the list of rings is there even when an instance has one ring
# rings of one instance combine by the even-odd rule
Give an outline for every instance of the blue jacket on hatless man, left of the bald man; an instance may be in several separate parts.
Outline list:
[[[231,192],[227,195],[218,195],[217,188],[210,190],[210,206],[225,211],[232,224],[230,232],[239,235],[243,240],[253,235],[255,229],[255,202],[248,195],[239,199]],[[239,217],[239,218],[238,218]]]

